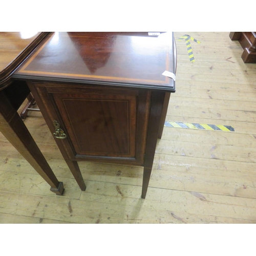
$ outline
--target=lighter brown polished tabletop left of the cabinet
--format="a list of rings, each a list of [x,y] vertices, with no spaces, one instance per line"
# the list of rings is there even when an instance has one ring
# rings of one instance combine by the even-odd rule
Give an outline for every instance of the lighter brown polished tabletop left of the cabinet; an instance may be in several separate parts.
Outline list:
[[[0,90],[10,76],[49,32],[0,32]]]

